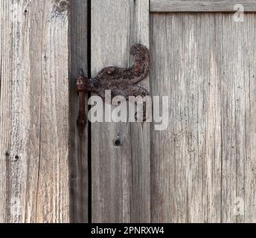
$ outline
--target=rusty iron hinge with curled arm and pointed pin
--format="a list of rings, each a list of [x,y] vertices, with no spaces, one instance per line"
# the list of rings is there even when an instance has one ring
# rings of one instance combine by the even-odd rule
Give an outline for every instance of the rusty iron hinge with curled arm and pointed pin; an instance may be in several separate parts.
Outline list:
[[[146,89],[135,86],[135,83],[140,82],[147,77],[150,68],[150,53],[144,45],[132,45],[130,54],[134,56],[135,62],[129,68],[118,68],[109,66],[103,68],[95,78],[88,79],[83,69],[80,70],[80,75],[76,79],[76,90],[79,94],[79,115],[77,118],[77,127],[80,133],[86,125],[85,113],[85,94],[86,92],[95,92],[100,97],[105,99],[105,90],[111,90],[111,97],[123,96],[126,100],[129,96],[148,95]]]

